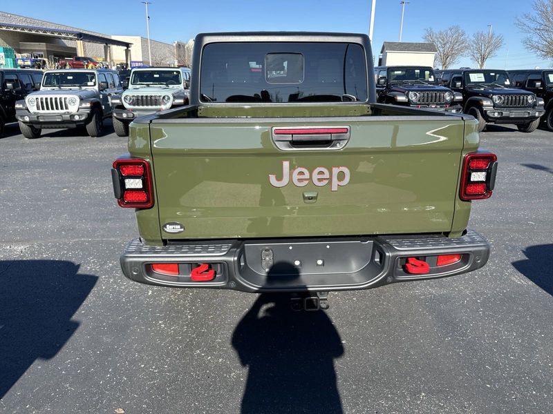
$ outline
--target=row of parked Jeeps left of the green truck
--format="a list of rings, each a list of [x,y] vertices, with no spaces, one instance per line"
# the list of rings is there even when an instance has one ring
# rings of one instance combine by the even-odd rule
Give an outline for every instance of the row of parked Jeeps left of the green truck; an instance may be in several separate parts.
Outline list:
[[[0,134],[18,121],[24,137],[43,129],[84,126],[102,135],[104,119],[113,117],[119,136],[129,133],[135,117],[188,104],[188,68],[142,68],[131,71],[129,90],[109,69],[0,70]]]

